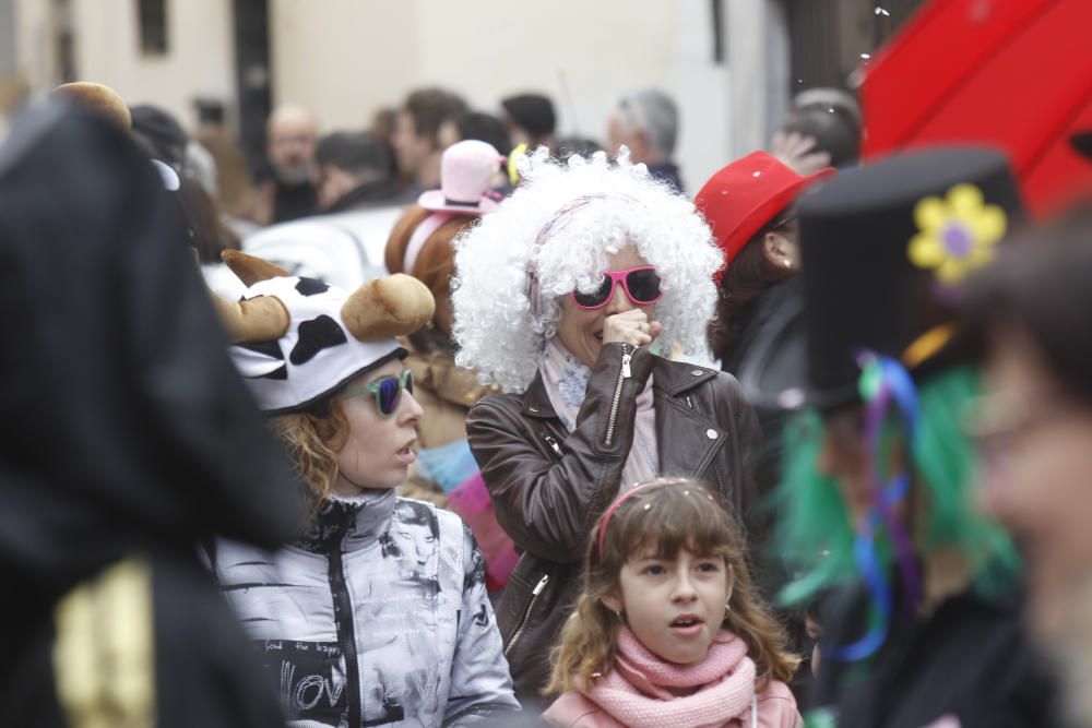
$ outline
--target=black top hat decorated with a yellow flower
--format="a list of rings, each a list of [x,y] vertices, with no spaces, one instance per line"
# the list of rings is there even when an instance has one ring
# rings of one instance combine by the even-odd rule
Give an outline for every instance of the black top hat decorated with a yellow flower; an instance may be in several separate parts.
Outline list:
[[[912,373],[951,362],[960,284],[1021,217],[1008,162],[983,147],[891,157],[804,195],[800,295],[744,359],[748,395],[790,409],[850,404],[864,349]]]

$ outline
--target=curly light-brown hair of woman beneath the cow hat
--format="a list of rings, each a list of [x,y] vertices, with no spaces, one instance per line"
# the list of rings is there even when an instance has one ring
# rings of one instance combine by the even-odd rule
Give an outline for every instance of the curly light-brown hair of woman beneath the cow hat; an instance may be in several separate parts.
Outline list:
[[[272,428],[317,508],[330,496],[337,479],[337,451],[348,437],[341,401],[330,396],[307,411],[281,415],[273,419]]]

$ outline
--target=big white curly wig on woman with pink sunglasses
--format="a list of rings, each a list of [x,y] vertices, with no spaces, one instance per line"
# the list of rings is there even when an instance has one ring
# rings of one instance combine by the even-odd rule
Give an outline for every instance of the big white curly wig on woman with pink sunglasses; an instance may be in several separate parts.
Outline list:
[[[602,152],[559,162],[539,147],[517,168],[520,188],[454,241],[460,366],[506,392],[525,390],[556,332],[558,297],[598,288],[607,256],[627,246],[663,281],[660,350],[704,350],[723,258],[691,202],[631,164],[625,150],[612,165]]]

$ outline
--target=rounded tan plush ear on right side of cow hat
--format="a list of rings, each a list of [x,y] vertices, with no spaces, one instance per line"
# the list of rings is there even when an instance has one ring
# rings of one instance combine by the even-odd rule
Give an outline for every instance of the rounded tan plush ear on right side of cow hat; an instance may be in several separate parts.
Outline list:
[[[353,336],[372,342],[418,331],[432,320],[436,300],[420,281],[395,273],[357,288],[341,313]]]

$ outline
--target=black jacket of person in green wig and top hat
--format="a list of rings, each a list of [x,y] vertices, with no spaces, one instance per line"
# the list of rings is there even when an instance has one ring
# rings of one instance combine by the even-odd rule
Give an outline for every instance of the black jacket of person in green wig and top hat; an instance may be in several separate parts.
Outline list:
[[[827,595],[823,643],[859,639],[867,602],[860,584]],[[964,592],[927,618],[897,614],[873,658],[822,657],[811,704],[831,711],[839,728],[921,728],[946,715],[962,728],[1057,726],[1054,685],[1022,633],[1022,605],[1019,592],[997,599]]]

